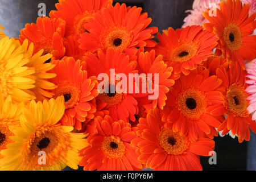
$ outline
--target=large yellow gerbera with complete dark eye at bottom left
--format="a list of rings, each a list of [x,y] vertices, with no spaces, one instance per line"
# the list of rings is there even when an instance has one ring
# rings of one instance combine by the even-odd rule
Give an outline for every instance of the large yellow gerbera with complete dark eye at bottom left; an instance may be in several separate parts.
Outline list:
[[[1,151],[2,170],[61,170],[78,168],[78,152],[88,146],[86,135],[71,133],[73,127],[58,124],[65,111],[64,97],[31,101],[20,116],[20,127],[13,127],[14,143]],[[45,156],[45,160],[42,159]]]

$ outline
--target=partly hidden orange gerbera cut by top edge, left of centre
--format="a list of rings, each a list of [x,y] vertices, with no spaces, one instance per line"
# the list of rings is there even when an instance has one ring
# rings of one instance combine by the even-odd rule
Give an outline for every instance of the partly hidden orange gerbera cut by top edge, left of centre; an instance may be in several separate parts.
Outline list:
[[[102,8],[111,5],[113,0],[60,0],[56,3],[57,11],[51,11],[51,18],[61,18],[67,23],[65,36],[75,36],[88,32],[88,19]]]

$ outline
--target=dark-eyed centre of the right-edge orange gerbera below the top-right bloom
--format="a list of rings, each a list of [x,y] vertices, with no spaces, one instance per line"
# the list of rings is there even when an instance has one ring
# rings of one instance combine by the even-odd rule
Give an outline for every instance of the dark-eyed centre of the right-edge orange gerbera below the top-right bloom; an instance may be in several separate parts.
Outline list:
[[[228,89],[226,97],[228,100],[228,103],[225,104],[227,110],[232,111],[240,117],[248,116],[248,111],[246,109],[248,106],[246,100],[247,94],[245,93],[245,89],[243,88],[243,86],[233,84]]]

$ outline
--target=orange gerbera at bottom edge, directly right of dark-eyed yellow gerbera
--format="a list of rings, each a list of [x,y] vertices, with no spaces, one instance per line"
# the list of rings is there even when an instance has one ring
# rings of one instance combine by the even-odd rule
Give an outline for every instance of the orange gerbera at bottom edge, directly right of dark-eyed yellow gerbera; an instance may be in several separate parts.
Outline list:
[[[90,146],[80,151],[84,158],[79,165],[85,171],[133,171],[142,165],[136,154],[137,147],[130,144],[135,137],[131,125],[122,120],[114,120],[106,115],[94,119],[97,134],[88,137]]]

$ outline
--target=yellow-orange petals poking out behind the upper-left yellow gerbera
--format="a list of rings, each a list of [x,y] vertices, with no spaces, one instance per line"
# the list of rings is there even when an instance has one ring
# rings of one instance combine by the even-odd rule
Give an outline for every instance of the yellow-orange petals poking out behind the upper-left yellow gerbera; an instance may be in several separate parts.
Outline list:
[[[55,84],[47,81],[49,78],[56,77],[55,73],[47,73],[47,71],[55,67],[55,64],[51,63],[52,55],[49,53],[43,55],[44,49],[33,54],[34,44],[31,43],[28,45],[27,39],[23,41],[22,47],[24,52],[27,53],[28,59],[30,60],[26,66],[35,68],[35,88],[31,89],[31,94],[35,94],[37,101],[43,101],[44,99],[52,98],[53,94],[47,91],[57,88]]]

